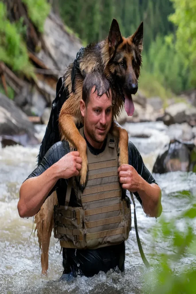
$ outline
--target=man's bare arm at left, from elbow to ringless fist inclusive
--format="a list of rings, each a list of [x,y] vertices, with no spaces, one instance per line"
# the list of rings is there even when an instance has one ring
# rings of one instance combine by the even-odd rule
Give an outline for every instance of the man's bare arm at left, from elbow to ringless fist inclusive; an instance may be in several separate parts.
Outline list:
[[[19,216],[34,216],[41,208],[48,193],[58,179],[68,179],[72,176],[78,176],[81,170],[81,163],[82,159],[79,157],[79,152],[73,151],[63,156],[41,175],[28,178],[22,184],[19,192]]]

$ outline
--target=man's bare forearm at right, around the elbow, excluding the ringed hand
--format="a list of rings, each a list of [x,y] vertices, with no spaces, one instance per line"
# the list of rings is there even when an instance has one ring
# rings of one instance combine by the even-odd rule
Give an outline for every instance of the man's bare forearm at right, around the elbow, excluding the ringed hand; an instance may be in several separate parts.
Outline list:
[[[142,200],[144,212],[148,216],[159,217],[162,212],[161,190],[159,186],[155,183],[149,184],[143,180],[137,192]]]

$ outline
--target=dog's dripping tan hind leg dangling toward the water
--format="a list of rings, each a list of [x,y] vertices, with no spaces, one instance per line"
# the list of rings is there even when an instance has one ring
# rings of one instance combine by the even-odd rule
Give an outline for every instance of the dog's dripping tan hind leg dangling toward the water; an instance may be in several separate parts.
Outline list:
[[[53,207],[57,203],[56,192],[53,192],[35,215],[35,230],[37,229],[39,247],[41,248],[41,273],[44,275],[48,270],[48,250],[53,229]]]

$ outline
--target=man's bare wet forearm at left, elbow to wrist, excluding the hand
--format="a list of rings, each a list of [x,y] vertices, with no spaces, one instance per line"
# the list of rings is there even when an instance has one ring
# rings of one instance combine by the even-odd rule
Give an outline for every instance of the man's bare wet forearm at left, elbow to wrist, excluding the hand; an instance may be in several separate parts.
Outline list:
[[[34,216],[57,181],[56,164],[53,164],[40,176],[27,179],[19,192],[18,211],[20,217]]]

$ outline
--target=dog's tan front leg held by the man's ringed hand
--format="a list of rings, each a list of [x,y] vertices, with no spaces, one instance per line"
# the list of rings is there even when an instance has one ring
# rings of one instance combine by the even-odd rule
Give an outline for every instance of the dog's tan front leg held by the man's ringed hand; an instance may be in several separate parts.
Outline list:
[[[122,164],[128,164],[128,141],[129,136],[127,131],[122,128],[116,121],[113,121],[111,127],[111,133],[116,137],[119,138],[118,143],[118,164],[119,166]]]

